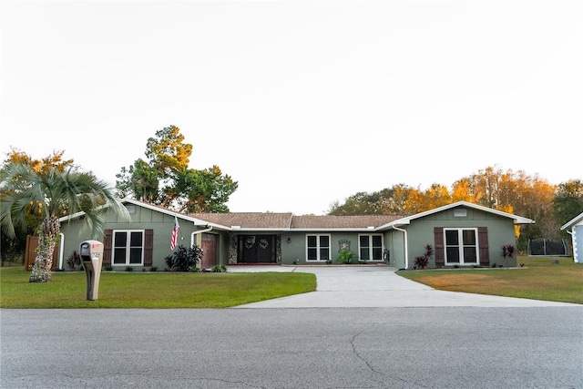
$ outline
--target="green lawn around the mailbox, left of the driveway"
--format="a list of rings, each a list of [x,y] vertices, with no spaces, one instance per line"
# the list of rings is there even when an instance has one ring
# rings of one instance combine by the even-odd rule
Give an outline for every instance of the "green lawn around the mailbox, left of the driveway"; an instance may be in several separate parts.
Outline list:
[[[56,271],[46,283],[29,275],[0,268],[1,308],[227,308],[316,290],[315,275],[300,272],[103,272],[87,301],[85,271]]]

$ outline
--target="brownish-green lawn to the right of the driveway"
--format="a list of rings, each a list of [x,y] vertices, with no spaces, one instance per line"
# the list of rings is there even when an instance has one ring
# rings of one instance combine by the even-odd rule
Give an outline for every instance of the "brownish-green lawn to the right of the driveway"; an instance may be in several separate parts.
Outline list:
[[[518,257],[518,263],[524,263],[526,269],[454,269],[397,273],[442,291],[583,304],[583,263],[575,263],[572,258],[559,257],[558,264],[551,264],[552,259],[553,257]]]

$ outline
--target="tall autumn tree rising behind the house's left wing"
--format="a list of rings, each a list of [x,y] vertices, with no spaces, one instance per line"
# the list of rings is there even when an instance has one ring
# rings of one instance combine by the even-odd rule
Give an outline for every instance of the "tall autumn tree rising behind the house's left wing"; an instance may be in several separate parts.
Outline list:
[[[156,204],[179,212],[227,212],[226,203],[238,183],[218,166],[189,169],[192,145],[176,126],[148,138],[147,160],[138,159],[116,176],[118,196]]]

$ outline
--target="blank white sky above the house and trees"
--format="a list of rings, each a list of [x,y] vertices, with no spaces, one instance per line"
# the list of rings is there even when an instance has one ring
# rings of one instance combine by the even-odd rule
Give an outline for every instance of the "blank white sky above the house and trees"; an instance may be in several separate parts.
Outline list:
[[[174,125],[231,211],[583,179],[583,2],[2,1],[1,142],[115,183]],[[577,141],[575,138],[577,137]],[[578,160],[576,160],[576,157]]]

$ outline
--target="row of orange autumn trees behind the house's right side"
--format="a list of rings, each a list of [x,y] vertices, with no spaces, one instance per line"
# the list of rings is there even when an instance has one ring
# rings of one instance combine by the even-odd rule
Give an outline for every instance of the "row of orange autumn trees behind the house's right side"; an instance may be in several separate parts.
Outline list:
[[[332,203],[327,213],[406,216],[461,200],[535,220],[535,224],[521,227],[519,241],[557,240],[566,237],[560,227],[583,212],[583,181],[570,179],[552,185],[523,170],[487,167],[456,180],[451,189],[437,183],[428,189],[396,184],[378,191],[356,192],[342,204]]]

